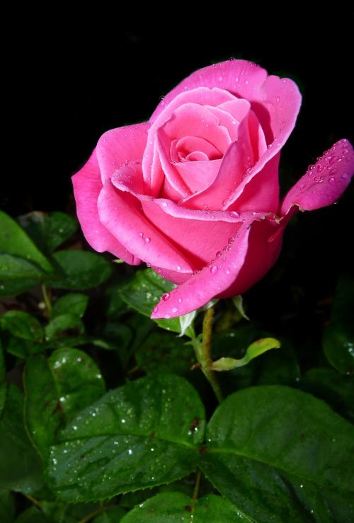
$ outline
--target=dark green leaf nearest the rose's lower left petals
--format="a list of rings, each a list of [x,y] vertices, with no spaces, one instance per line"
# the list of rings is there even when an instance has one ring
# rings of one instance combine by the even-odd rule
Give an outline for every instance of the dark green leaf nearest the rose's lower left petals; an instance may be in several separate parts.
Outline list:
[[[91,289],[105,282],[112,274],[110,263],[88,251],[57,251],[53,260],[62,275],[52,277],[50,287],[57,289]]]

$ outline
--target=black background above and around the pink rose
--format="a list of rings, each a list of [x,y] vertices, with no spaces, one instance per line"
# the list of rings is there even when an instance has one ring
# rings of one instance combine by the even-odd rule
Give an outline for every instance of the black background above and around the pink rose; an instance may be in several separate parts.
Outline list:
[[[353,16],[341,9],[311,19],[295,15],[290,4],[286,12],[272,9],[268,18],[257,13],[257,20],[256,13],[210,13],[205,23],[179,6],[178,13],[162,10],[161,21],[143,25],[112,13],[97,19],[93,13],[90,23],[59,19],[58,11],[39,28],[29,25],[18,51],[7,46],[5,109],[13,131],[0,207],[13,216],[74,213],[70,178],[101,134],[147,120],[185,76],[230,57],[250,59],[299,85],[302,109],[282,152],[281,184],[288,188],[333,142],[353,139]],[[320,297],[333,291],[339,272],[353,267],[353,202],[352,184],[338,205],[301,215],[295,234],[285,235],[285,245],[292,242],[290,251],[297,251],[288,277],[307,282]]]

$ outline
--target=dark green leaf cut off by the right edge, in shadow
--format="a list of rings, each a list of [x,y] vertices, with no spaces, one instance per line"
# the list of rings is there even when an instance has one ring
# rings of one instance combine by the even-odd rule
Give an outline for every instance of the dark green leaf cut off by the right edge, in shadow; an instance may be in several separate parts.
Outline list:
[[[342,374],[354,374],[354,277],[341,277],[333,300],[331,322],[322,338],[329,363]]]

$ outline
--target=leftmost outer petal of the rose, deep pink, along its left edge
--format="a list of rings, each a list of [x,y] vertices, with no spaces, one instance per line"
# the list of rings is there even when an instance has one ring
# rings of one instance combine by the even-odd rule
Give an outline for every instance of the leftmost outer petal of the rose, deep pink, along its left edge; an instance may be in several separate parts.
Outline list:
[[[130,265],[138,265],[135,258],[122,244],[105,229],[98,218],[97,199],[102,189],[100,169],[96,149],[91,154],[83,168],[72,177],[74,196],[76,200],[77,217],[86,240],[99,253],[108,251]]]

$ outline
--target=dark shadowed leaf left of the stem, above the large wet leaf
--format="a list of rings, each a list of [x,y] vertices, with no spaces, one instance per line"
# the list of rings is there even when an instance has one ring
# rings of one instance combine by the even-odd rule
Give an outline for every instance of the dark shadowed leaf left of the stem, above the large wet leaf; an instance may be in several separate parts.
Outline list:
[[[142,342],[135,355],[137,365],[145,372],[173,372],[188,376],[195,363],[195,355],[190,345],[181,338],[164,333],[152,332]]]

